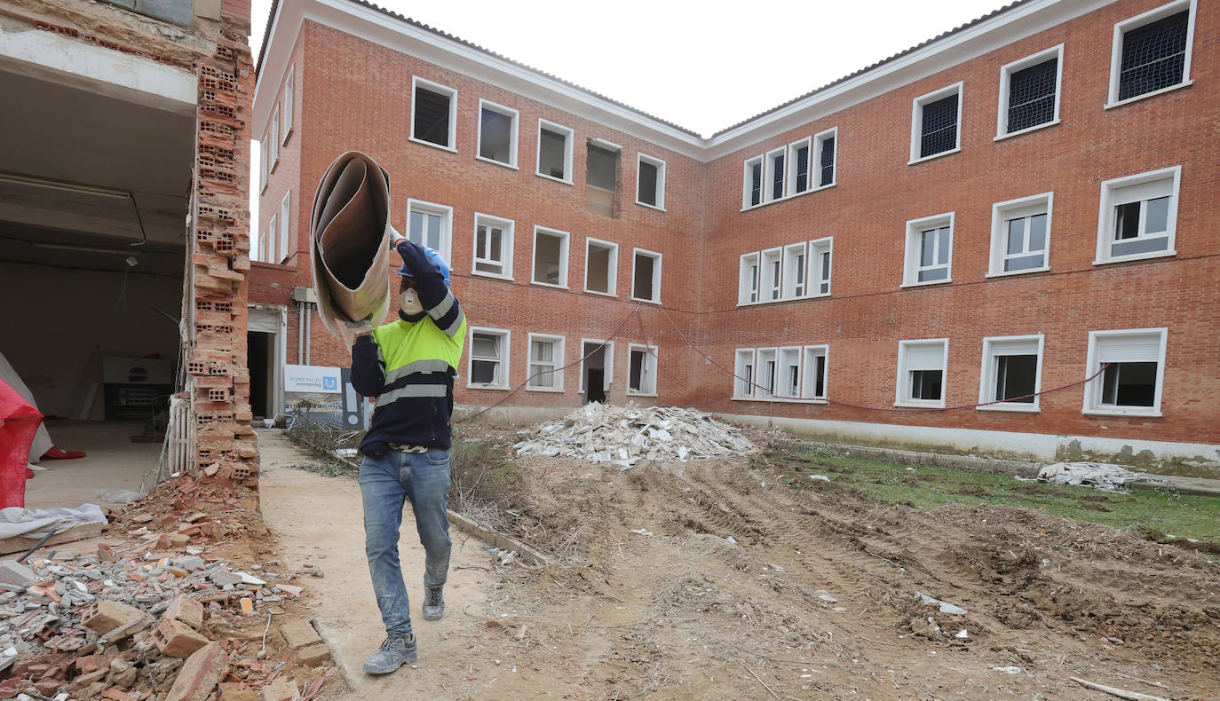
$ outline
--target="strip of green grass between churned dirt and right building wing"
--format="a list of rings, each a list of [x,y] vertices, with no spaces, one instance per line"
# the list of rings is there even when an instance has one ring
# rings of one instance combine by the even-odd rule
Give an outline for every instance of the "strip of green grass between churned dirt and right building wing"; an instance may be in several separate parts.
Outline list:
[[[946,504],[1022,506],[1047,513],[1136,530],[1149,540],[1220,551],[1220,496],[1177,494],[1160,489],[1105,493],[1087,486],[1030,483],[1004,474],[959,472],[930,466],[903,466],[854,457],[820,445],[772,449],[762,460],[783,474],[781,483],[810,488],[810,474],[860,489],[887,504],[936,508]],[[1169,538],[1172,534],[1174,538]],[[1183,543],[1193,538],[1198,544]]]

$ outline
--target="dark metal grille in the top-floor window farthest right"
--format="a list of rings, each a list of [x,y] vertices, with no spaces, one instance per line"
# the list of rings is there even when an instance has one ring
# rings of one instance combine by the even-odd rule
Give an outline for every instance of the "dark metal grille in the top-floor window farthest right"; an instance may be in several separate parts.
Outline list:
[[[1182,82],[1186,72],[1186,29],[1190,11],[1136,27],[1122,35],[1119,100],[1136,98]]]

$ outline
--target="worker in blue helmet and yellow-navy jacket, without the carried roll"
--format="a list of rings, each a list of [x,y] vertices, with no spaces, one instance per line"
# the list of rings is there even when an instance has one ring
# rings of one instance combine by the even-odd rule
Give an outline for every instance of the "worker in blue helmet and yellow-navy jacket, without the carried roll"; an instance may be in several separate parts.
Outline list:
[[[365,552],[373,592],[386,624],[386,641],[365,662],[368,674],[388,674],[415,662],[411,613],[398,560],[404,501],[411,502],[423,574],[425,621],[445,612],[449,571],[450,416],[454,377],[466,339],[466,315],[449,290],[449,267],[432,249],[399,237],[398,321],[372,327],[349,322],[351,385],[375,396],[372,423],[360,444],[360,494],[365,508]]]

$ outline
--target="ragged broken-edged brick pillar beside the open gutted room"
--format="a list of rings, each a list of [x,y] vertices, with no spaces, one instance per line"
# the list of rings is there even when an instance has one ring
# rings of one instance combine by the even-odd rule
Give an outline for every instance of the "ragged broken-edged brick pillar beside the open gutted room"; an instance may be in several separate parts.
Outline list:
[[[249,4],[224,2],[216,51],[195,67],[198,141],[184,333],[196,467],[218,463],[214,479],[257,486],[245,335],[254,95],[249,29]]]

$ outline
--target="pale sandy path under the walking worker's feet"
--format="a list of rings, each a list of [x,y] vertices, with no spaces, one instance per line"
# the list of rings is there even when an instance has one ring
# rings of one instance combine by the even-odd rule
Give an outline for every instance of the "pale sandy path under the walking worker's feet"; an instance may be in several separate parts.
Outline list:
[[[259,479],[262,513],[267,528],[281,544],[287,564],[317,564],[325,577],[303,582],[309,589],[317,624],[351,685],[349,699],[468,697],[472,680],[460,675],[455,662],[465,657],[468,639],[486,629],[487,589],[494,578],[488,567],[487,546],[453,529],[453,560],[445,586],[447,612],[442,621],[420,616],[423,580],[423,547],[415,533],[411,510],[403,518],[399,552],[411,622],[418,639],[420,660],[415,669],[404,668],[386,677],[361,672],[365,657],[384,638],[377,601],[365,560],[360,486],[355,479],[328,478],[287,464],[310,462],[289,444],[282,432],[259,432],[262,472]],[[464,614],[466,610],[470,614]],[[443,671],[443,673],[438,673]],[[476,680],[477,681],[477,678]]]

